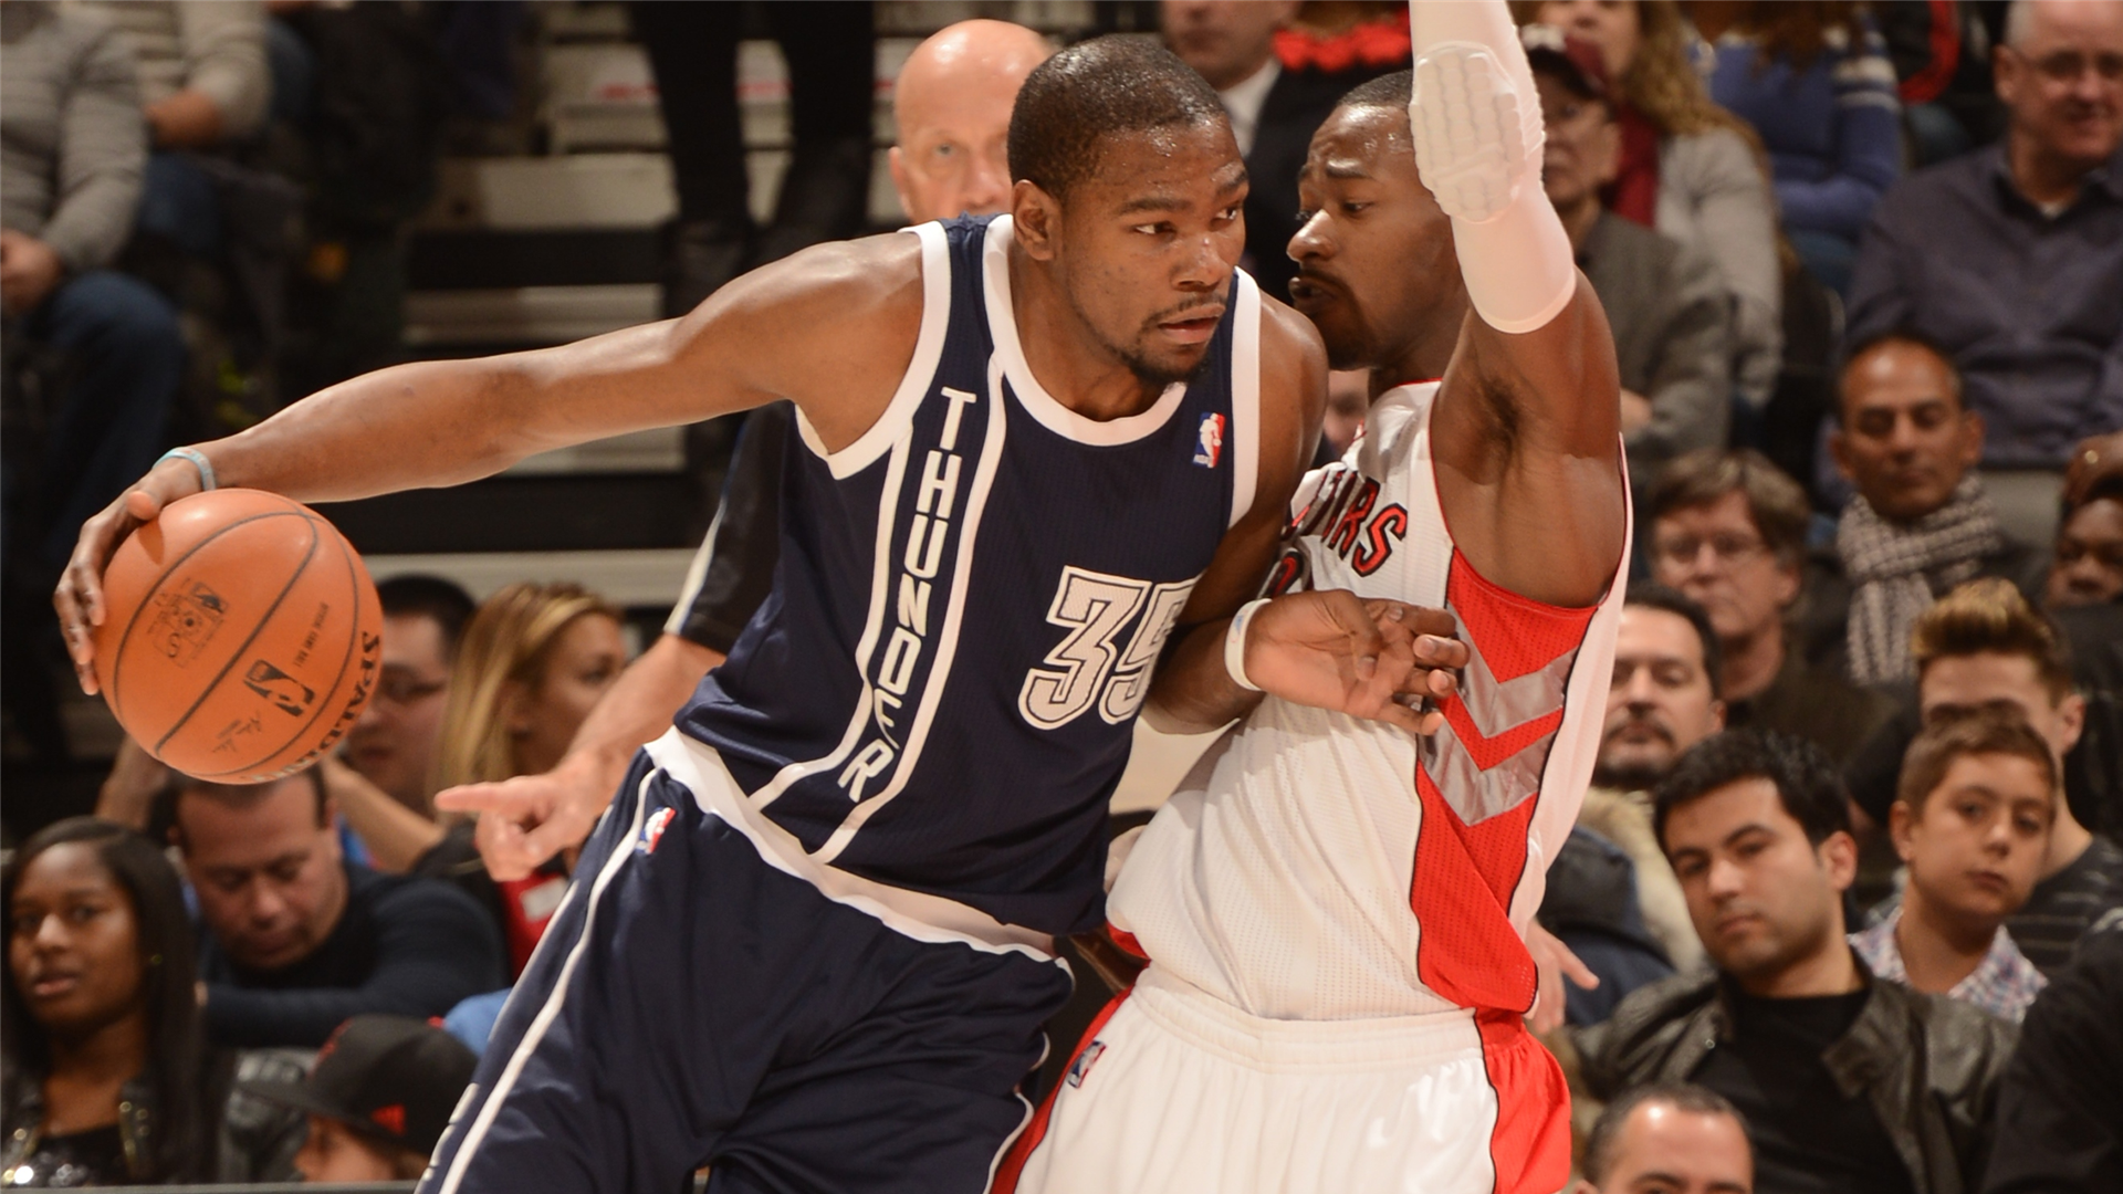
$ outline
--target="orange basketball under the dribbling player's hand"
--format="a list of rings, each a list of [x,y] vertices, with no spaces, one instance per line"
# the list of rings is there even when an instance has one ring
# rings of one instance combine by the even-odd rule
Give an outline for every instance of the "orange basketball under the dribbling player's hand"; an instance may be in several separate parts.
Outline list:
[[[376,688],[382,610],[361,557],[257,489],[172,501],[104,572],[96,673],[119,724],[200,780],[299,771]]]

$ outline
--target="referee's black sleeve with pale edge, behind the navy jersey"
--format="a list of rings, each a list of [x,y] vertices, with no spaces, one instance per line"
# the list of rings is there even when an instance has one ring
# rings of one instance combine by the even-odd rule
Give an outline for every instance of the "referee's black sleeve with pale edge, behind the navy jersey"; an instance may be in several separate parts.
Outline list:
[[[722,506],[707,529],[701,555],[686,574],[686,593],[671,610],[664,633],[730,654],[737,635],[775,584],[781,559],[781,455],[796,425],[788,402],[745,416],[730,455]]]

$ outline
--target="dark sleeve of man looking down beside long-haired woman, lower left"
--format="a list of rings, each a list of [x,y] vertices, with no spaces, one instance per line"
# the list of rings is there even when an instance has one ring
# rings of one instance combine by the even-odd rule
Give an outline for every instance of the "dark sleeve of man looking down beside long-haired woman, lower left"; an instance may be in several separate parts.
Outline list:
[[[219,1045],[314,1050],[348,1016],[442,1016],[459,1001],[507,986],[501,937],[465,892],[412,880],[378,894],[376,967],[348,988],[240,988],[210,984],[206,1035]]]

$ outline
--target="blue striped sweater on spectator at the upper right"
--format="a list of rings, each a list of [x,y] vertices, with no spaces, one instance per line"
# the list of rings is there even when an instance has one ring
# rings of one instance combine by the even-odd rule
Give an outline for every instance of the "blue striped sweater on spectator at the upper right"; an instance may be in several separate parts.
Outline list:
[[[1696,53],[1711,98],[1762,134],[1783,227],[1856,240],[1902,174],[1902,102],[1879,30],[1864,21],[1856,47],[1828,30],[1805,70],[1785,57],[1764,62],[1743,34]]]

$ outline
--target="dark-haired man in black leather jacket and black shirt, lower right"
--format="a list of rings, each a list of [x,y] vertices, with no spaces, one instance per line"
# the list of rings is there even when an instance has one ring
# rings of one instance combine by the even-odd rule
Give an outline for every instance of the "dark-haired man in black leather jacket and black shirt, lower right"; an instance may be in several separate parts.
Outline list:
[[[1658,788],[1658,835],[1715,973],[1677,975],[1575,1033],[1613,1098],[1694,1081],[1745,1115],[1764,1190],[1970,1190],[2013,1028],[1877,982],[1845,941],[1858,869],[1843,784],[1819,748],[1722,733]]]

